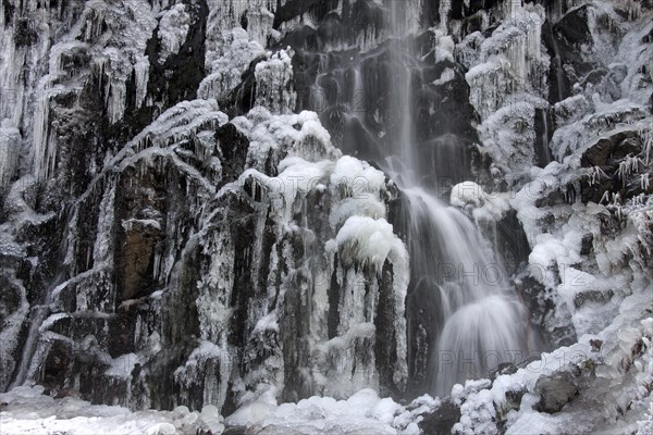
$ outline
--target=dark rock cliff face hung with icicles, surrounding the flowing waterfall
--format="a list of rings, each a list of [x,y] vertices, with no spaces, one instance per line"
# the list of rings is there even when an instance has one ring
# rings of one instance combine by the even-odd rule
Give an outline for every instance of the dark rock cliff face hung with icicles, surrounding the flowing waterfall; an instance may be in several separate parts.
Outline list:
[[[651,2],[407,0],[398,36],[384,3],[2,2],[0,389],[426,393],[432,301],[378,169],[401,111],[534,350],[651,304]]]

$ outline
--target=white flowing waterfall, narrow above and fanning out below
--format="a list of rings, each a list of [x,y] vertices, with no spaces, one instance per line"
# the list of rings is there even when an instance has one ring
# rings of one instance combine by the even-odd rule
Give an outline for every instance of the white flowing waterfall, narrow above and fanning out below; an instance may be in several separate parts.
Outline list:
[[[431,390],[444,396],[456,383],[483,377],[503,362],[529,351],[528,312],[510,286],[503,263],[465,213],[420,185],[412,113],[410,2],[391,1],[391,84],[389,112],[395,114],[386,171],[409,203],[407,238],[417,286],[435,291],[436,341],[431,353]],[[419,2],[417,2],[419,3]],[[451,162],[456,164],[456,162]],[[442,166],[442,163],[439,164]],[[432,187],[432,186],[431,186]]]

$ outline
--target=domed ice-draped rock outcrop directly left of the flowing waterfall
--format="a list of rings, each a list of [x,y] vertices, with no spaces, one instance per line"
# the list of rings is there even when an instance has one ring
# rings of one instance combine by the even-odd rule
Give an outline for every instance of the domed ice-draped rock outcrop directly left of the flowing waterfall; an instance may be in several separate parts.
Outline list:
[[[384,175],[338,158],[309,113],[225,120],[177,104],[71,207],[21,376],[132,408],[234,409],[261,382],[287,400],[404,391],[408,266]],[[356,251],[366,209],[385,259]]]

